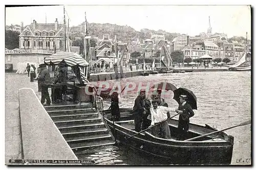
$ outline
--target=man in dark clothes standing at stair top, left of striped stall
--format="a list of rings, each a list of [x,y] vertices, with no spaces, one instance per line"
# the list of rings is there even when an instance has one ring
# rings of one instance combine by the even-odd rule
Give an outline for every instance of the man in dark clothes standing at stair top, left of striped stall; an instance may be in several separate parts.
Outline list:
[[[38,81],[41,81],[41,104],[44,105],[46,100],[45,106],[50,106],[51,99],[48,92],[48,87],[51,84],[50,72],[45,64],[40,64],[39,66],[41,67],[40,76],[38,77]]]

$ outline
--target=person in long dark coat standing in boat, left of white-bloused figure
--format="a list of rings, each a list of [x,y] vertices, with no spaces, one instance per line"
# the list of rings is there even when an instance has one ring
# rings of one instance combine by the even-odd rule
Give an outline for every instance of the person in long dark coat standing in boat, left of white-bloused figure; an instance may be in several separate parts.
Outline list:
[[[133,114],[134,114],[134,123],[135,123],[135,131],[141,131],[141,123],[142,123],[142,115],[145,114],[145,90],[140,90],[140,94],[134,101]]]

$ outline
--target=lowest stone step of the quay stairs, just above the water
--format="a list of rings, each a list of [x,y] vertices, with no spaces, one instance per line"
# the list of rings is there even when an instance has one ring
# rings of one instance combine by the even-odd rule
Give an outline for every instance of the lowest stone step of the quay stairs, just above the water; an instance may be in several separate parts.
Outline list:
[[[74,152],[79,152],[81,150],[88,149],[88,148],[100,147],[103,145],[112,145],[112,144],[115,144],[113,140],[101,140],[97,142],[94,141],[94,142],[82,142],[82,143],[70,144],[70,148]]]

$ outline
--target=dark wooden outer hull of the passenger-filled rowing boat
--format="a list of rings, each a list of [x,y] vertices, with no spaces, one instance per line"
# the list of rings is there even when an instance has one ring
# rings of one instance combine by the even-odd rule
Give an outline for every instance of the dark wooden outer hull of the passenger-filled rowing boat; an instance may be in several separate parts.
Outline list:
[[[159,164],[227,165],[231,163],[232,136],[229,136],[229,142],[189,142],[156,138],[146,132],[126,140],[137,132],[113,124],[108,119],[106,124],[117,141],[144,155],[147,154],[148,157],[159,159]]]

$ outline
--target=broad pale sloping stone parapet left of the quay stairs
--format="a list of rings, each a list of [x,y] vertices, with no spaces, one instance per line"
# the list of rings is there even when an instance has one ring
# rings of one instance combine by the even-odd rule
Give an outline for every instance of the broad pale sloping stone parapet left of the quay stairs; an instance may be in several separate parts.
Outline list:
[[[19,89],[18,102],[23,159],[78,160],[31,88]]]

